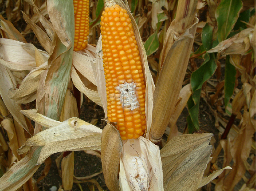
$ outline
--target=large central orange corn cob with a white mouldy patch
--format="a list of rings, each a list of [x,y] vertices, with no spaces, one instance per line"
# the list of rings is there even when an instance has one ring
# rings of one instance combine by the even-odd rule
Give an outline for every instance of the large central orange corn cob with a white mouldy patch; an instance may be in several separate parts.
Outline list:
[[[121,138],[145,132],[145,83],[133,25],[119,5],[105,7],[101,17],[107,117]]]

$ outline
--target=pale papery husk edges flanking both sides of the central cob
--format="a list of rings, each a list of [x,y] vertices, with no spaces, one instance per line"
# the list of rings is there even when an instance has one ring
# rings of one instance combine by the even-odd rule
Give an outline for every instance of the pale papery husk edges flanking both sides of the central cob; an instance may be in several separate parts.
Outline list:
[[[125,5],[121,0],[104,0],[104,5],[106,6],[112,6],[112,5],[119,5],[123,9],[127,11],[127,14],[129,15],[131,19],[131,23],[133,24],[134,29],[134,35],[135,39],[137,41],[139,55],[141,57],[142,62],[142,72],[144,74],[144,80],[145,80],[145,88],[146,88],[146,96],[145,96],[145,113],[146,113],[146,130],[144,137],[149,137],[149,130],[151,128],[151,120],[152,120],[152,107],[153,107],[153,92],[155,89],[154,81],[152,78],[152,75],[149,71],[146,51],[142,42],[142,39],[140,37],[139,28],[136,24],[136,21],[134,20],[128,3]],[[99,96],[102,101],[103,109],[105,112],[105,116],[107,116],[107,93],[106,93],[106,86],[105,86],[105,75],[104,75],[104,68],[103,68],[103,60],[102,60],[102,41],[101,36],[99,37],[98,44],[96,46],[96,71],[94,72],[98,84],[98,92]]]

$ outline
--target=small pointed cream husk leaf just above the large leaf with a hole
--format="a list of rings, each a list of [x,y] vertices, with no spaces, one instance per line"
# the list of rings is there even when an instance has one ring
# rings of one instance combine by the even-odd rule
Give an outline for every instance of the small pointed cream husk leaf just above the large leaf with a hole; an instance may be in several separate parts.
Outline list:
[[[40,113],[37,113],[37,110],[35,110],[35,109],[24,110],[24,111],[21,111],[21,113],[46,128],[51,128],[53,126],[58,126],[61,124],[61,122],[59,122],[59,121],[50,119],[49,117],[46,117]]]

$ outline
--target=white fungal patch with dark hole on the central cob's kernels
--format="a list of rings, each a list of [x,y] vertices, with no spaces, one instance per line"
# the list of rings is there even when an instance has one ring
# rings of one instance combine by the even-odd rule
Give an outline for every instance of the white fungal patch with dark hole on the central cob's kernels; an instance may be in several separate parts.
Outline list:
[[[136,84],[134,82],[119,84],[116,90],[120,91],[122,107],[130,107],[131,111],[139,108],[139,102],[136,96]]]

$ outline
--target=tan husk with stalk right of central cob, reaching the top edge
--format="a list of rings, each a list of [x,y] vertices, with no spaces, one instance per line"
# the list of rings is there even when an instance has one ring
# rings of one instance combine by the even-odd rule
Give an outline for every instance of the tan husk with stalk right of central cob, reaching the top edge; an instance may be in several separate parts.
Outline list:
[[[175,20],[166,33],[153,97],[149,135],[149,140],[153,143],[162,139],[178,100],[197,29],[196,6],[197,0],[179,1]]]

